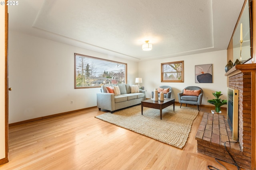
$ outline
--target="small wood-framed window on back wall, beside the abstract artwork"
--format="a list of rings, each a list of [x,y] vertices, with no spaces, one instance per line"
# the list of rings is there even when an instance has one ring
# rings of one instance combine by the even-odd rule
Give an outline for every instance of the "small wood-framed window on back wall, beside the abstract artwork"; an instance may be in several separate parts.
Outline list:
[[[184,61],[161,63],[161,82],[184,82]]]

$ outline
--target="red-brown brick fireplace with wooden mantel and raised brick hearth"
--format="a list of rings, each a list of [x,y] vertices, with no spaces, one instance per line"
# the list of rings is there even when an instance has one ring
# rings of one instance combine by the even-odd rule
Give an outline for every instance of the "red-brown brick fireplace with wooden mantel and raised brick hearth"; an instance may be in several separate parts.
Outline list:
[[[238,166],[254,169],[256,64],[236,65],[225,76],[228,76],[228,87],[239,90],[238,143],[226,143],[226,146]],[[204,113],[196,140],[198,152],[234,163],[224,147],[225,141],[234,141],[226,115]]]

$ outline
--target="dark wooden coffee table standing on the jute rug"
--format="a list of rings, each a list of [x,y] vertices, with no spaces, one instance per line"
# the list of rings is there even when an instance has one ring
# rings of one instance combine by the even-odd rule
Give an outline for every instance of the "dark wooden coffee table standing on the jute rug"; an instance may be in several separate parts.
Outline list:
[[[143,115],[143,107],[150,107],[154,109],[160,109],[160,119],[162,119],[162,109],[165,107],[173,105],[173,110],[175,106],[175,99],[166,99],[164,101],[154,101],[152,99],[144,100],[141,102],[141,114]]]

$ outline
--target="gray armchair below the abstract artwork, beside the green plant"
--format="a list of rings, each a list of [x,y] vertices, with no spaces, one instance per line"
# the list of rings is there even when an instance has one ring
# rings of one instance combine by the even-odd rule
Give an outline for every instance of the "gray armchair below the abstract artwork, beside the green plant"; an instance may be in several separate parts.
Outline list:
[[[183,94],[184,89],[186,89],[186,90],[201,90],[201,93],[199,94],[199,96],[186,96]],[[187,106],[187,104],[197,105],[197,108],[199,111],[199,105],[201,105],[201,103],[202,103],[202,98],[203,98],[203,93],[204,93],[202,88],[197,87],[197,86],[188,86],[184,89],[180,93],[178,93],[180,107],[183,103],[185,103],[186,106]]]

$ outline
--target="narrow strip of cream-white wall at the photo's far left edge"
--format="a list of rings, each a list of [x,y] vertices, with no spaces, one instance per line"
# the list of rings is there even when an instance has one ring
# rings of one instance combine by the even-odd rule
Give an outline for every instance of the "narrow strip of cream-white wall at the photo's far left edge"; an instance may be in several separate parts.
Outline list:
[[[5,158],[5,36],[4,12],[5,6],[0,6],[0,159]]]

